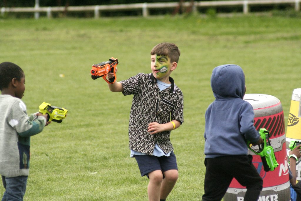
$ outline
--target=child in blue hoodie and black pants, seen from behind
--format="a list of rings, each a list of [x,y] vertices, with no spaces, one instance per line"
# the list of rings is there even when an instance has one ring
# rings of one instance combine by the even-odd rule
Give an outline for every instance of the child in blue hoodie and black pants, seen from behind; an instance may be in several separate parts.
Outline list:
[[[220,201],[235,178],[247,188],[244,201],[257,201],[262,178],[247,155],[246,140],[263,143],[253,125],[254,111],[243,100],[245,75],[240,66],[221,65],[213,69],[211,88],[215,100],[205,114],[205,166],[203,201]]]

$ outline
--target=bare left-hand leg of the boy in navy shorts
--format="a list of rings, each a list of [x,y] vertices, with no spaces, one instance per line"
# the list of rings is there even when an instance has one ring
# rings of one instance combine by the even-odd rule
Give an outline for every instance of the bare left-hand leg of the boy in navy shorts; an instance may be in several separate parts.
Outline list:
[[[149,201],[160,200],[160,188],[163,180],[163,174],[161,170],[155,170],[148,173],[150,179],[147,187],[147,195]]]

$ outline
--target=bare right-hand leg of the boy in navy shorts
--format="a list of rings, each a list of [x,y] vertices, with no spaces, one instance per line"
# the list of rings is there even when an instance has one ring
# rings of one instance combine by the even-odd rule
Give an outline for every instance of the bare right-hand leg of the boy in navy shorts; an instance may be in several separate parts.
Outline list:
[[[160,199],[166,199],[172,191],[175,183],[178,180],[178,170],[168,170],[164,172],[164,179],[161,184]]]

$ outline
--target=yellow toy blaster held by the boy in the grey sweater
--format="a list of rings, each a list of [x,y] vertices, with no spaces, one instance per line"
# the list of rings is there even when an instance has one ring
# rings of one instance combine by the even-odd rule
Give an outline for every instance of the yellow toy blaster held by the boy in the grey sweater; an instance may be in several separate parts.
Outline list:
[[[58,108],[55,106],[51,106],[49,103],[43,102],[39,106],[39,112],[45,115],[48,114],[47,121],[55,121],[57,123],[61,123],[64,118],[67,116],[68,110],[65,108]]]

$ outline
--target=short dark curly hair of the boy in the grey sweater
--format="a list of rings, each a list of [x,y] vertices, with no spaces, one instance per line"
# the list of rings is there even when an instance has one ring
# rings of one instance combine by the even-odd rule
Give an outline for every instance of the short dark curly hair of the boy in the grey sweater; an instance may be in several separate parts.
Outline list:
[[[0,64],[0,90],[8,88],[9,82],[16,78],[19,82],[24,77],[23,70],[16,64],[11,62],[2,62]]]

